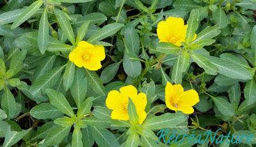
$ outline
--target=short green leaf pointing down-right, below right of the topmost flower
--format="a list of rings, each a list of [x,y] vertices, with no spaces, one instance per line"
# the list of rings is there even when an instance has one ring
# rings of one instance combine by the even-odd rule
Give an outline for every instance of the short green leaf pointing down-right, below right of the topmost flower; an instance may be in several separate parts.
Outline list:
[[[191,58],[195,61],[195,63],[204,68],[206,74],[216,75],[217,74],[217,66],[213,65],[209,62],[209,59],[205,56],[201,56],[200,54],[190,54]]]

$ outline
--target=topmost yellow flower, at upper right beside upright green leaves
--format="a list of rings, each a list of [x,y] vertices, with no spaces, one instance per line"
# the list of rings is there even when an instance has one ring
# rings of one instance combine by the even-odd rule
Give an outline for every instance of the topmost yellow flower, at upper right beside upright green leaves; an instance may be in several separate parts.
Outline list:
[[[188,24],[184,25],[184,20],[177,17],[168,17],[165,21],[161,21],[157,25],[157,36],[159,42],[170,42],[178,47],[181,42],[185,42]],[[194,40],[196,34],[194,36]]]

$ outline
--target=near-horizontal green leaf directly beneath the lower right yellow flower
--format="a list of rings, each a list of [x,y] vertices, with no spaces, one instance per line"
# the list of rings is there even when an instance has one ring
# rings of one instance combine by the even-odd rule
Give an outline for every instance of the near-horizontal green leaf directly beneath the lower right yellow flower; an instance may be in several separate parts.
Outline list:
[[[180,113],[165,113],[161,116],[155,116],[153,118],[148,118],[142,124],[143,127],[150,130],[159,130],[161,128],[172,128],[180,123],[183,123],[188,118],[184,114]]]

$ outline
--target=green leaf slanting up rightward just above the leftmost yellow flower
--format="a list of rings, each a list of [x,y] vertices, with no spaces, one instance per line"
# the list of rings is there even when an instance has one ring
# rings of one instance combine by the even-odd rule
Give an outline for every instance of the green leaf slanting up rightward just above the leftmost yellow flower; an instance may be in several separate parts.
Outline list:
[[[108,24],[98,31],[95,31],[95,33],[88,38],[88,42],[90,43],[97,43],[100,40],[103,40],[104,38],[107,38],[108,36],[114,35],[117,31],[119,31],[122,27],[124,27],[124,24],[119,24],[119,23],[113,23],[113,24]]]

